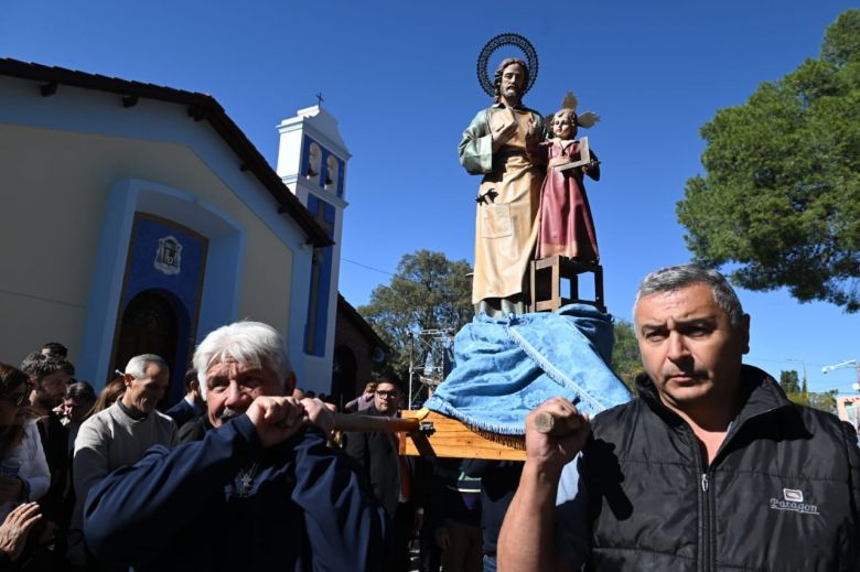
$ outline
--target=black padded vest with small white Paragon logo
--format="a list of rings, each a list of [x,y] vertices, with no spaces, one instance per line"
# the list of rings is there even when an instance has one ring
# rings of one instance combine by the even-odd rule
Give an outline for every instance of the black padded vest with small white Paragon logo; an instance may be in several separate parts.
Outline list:
[[[860,452],[835,415],[793,404],[744,366],[744,404],[707,466],[646,377],[601,413],[580,462],[587,570],[860,570]]]

